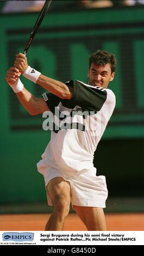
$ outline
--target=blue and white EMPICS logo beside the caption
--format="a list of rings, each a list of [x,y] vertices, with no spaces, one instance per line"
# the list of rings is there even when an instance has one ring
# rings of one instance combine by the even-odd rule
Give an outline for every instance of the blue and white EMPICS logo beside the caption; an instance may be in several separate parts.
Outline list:
[[[3,241],[33,241],[34,233],[8,232],[2,234]]]

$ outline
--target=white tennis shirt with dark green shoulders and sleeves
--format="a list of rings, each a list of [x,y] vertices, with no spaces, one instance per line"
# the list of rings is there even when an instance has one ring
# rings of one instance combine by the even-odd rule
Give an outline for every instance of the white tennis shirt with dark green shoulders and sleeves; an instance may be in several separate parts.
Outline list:
[[[66,85],[73,88],[70,100],[51,93],[42,95],[54,115],[51,141],[42,158],[51,150],[60,168],[79,172],[93,164],[93,154],[115,108],[115,95],[110,89],[78,80]]]

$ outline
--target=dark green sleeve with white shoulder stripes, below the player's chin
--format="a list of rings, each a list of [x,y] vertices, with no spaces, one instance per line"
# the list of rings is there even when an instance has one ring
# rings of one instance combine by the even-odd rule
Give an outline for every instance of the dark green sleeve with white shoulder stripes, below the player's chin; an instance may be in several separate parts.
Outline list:
[[[86,111],[99,111],[107,100],[107,90],[102,87],[90,87],[78,80],[71,80],[66,84],[73,88],[70,101]]]

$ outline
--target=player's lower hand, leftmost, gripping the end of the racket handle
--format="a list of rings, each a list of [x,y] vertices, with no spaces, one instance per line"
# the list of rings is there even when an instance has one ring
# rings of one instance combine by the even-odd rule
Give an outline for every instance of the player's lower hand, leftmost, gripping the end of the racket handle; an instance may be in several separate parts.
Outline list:
[[[7,74],[5,76],[5,80],[9,84],[13,84],[17,81],[18,77],[20,77],[21,73],[20,71],[15,68],[15,66],[11,66],[9,70],[7,71]]]

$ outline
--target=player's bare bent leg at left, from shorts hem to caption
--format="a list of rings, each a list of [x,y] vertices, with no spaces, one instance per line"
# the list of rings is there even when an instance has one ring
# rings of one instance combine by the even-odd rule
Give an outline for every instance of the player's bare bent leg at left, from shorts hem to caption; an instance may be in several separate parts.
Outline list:
[[[70,184],[60,177],[54,178],[47,185],[47,193],[53,203],[53,212],[45,230],[63,230],[70,210]]]

